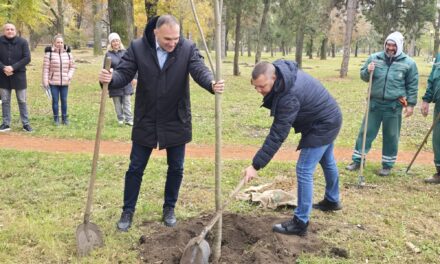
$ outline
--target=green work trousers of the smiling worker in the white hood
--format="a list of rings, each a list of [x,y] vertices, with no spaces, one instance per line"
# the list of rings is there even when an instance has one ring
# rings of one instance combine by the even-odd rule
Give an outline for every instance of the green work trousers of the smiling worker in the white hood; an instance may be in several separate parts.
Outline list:
[[[382,167],[392,168],[396,163],[399,147],[400,127],[402,125],[402,105],[398,101],[382,101],[371,99],[368,112],[367,135],[365,139],[365,154],[371,149],[382,124]],[[364,134],[365,117],[362,122],[352,159],[361,162],[362,138]],[[440,131],[439,131],[440,132]],[[440,150],[440,148],[439,148]],[[438,160],[440,162],[440,159]]]

